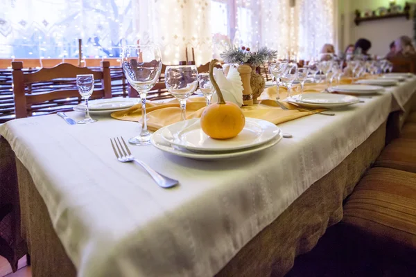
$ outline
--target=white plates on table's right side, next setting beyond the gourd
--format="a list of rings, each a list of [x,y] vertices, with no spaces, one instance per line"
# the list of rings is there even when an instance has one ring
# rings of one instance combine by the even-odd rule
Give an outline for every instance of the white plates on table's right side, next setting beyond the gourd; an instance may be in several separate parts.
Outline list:
[[[331,93],[306,93],[286,98],[287,102],[301,107],[313,109],[338,109],[360,102],[355,96]]]

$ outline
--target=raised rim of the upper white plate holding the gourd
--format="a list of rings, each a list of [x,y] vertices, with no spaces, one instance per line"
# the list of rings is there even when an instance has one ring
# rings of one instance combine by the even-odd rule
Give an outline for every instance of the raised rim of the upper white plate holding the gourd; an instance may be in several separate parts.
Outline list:
[[[193,121],[194,121],[194,122],[193,122],[193,123],[191,123],[191,124],[194,124],[194,123],[196,123],[198,120],[200,120],[200,118],[191,118],[191,119],[188,119],[187,121],[191,121],[191,120],[193,120]],[[175,143],[174,141],[170,141],[170,140],[166,139],[166,138],[165,138],[165,136],[163,135],[163,132],[161,133],[161,135],[162,135],[162,139],[164,139],[164,141],[166,141],[167,143],[170,143],[170,144],[172,144],[172,145],[176,145],[176,146],[178,146],[178,147],[180,147],[180,148],[185,148],[185,149],[187,149],[187,150],[194,150],[194,151],[199,151],[199,152],[227,152],[227,151],[236,151],[236,150],[243,150],[243,149],[248,149],[248,148],[254,148],[254,147],[257,147],[257,146],[262,145],[262,144],[264,144],[264,143],[268,143],[269,141],[272,141],[272,140],[273,140],[273,139],[275,139],[275,138],[276,138],[279,134],[281,134],[281,129],[280,129],[279,127],[277,127],[277,125],[275,125],[275,124],[271,123],[271,122],[270,122],[270,121],[268,121],[268,120],[263,120],[263,119],[259,119],[259,118],[250,118],[250,117],[246,117],[246,118],[245,118],[245,120],[246,120],[246,122],[247,122],[247,120],[254,120],[254,121],[256,121],[256,120],[262,120],[262,121],[264,121],[265,123],[270,124],[270,127],[271,127],[271,125],[275,126],[275,128],[277,129],[277,133],[275,134],[275,136],[272,136],[272,137],[271,137],[270,139],[268,139],[267,141],[263,141],[263,142],[255,143],[254,145],[250,145],[250,146],[248,146],[248,145],[244,145],[244,146],[239,146],[239,147],[234,147],[234,148],[228,148],[228,149],[223,149],[223,148],[210,148],[210,149],[207,149],[207,148],[198,148],[198,147],[193,147],[193,146],[189,146],[189,145],[185,146],[185,145],[182,145],[182,144],[179,144],[179,143]],[[163,127],[162,129],[166,130],[166,129],[168,129],[168,127],[171,127],[172,125],[175,125],[175,124],[178,124],[178,123],[181,123],[181,122],[182,122],[182,121],[177,122],[177,123],[172,123],[172,124],[170,124],[170,125],[168,125],[168,126]]]

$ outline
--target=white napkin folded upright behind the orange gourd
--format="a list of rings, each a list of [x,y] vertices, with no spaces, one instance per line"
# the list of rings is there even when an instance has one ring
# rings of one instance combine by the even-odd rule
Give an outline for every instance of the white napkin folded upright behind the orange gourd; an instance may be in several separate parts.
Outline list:
[[[221,69],[214,68],[215,80],[220,87],[225,101],[233,102],[239,107],[243,106],[243,82],[239,71],[234,66],[229,68],[227,78]],[[216,92],[212,95],[211,102],[218,101]]]

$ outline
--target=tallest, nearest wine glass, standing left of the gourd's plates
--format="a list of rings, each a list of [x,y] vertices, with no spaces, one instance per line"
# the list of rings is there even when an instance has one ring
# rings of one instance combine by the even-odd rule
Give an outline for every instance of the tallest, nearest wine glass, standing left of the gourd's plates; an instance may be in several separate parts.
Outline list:
[[[139,136],[129,139],[128,142],[146,145],[150,143],[146,121],[146,97],[162,71],[162,54],[156,45],[125,46],[121,61],[125,78],[139,92],[141,100],[141,132]]]

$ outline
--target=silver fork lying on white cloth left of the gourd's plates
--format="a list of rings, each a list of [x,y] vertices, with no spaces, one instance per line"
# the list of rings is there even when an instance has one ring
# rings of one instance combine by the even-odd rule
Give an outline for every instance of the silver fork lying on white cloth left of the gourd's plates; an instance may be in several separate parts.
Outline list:
[[[114,141],[114,143],[113,143],[113,141]],[[123,141],[123,144],[121,144],[121,141]],[[116,157],[119,161],[121,161],[122,163],[128,163],[130,161],[135,161],[136,163],[139,163],[139,165],[142,168],[144,168],[144,170],[146,170],[148,172],[148,174],[153,178],[153,180],[155,180],[155,182],[162,188],[172,188],[173,186],[176,186],[177,184],[179,184],[179,181],[177,181],[175,179],[168,178],[168,177],[156,172],[152,168],[150,168],[143,161],[135,159],[135,157],[133,157],[132,153],[128,149],[128,146],[125,143],[125,141],[123,139],[123,136],[121,136],[121,141],[117,137],[113,138],[113,139],[110,139],[112,148],[114,150],[114,154],[116,154]],[[123,147],[123,145],[124,145],[124,147]]]

